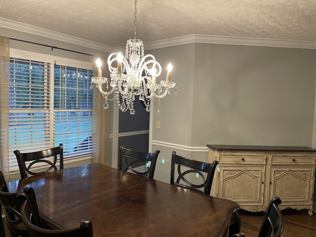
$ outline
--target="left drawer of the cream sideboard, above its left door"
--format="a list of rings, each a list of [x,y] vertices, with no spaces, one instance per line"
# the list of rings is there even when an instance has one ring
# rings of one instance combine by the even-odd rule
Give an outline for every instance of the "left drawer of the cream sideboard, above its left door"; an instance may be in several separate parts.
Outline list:
[[[219,158],[220,163],[228,164],[265,164],[266,156],[232,156],[232,155],[221,155]]]

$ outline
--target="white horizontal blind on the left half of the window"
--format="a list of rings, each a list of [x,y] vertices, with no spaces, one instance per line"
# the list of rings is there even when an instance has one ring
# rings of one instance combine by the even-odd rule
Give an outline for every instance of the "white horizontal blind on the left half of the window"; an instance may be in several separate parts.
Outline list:
[[[10,170],[18,169],[14,150],[30,152],[50,147],[49,84],[49,63],[10,59]]]

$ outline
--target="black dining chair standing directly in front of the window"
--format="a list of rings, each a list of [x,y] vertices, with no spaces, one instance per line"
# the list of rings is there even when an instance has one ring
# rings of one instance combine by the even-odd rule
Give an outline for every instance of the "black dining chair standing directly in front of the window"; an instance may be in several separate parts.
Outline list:
[[[36,175],[48,172],[52,168],[54,170],[57,170],[56,162],[57,162],[57,156],[59,155],[59,168],[64,168],[64,155],[63,155],[63,144],[59,144],[58,147],[37,151],[37,152],[30,152],[30,153],[21,153],[19,150],[15,150],[13,152],[16,156],[16,159],[18,161],[19,169],[20,169],[20,175],[21,179],[24,179],[28,177],[28,174]],[[49,160],[49,158],[53,158],[53,162]],[[32,161],[31,163],[29,163]],[[31,171],[31,167],[34,164],[44,162],[49,164],[49,167],[44,171],[36,172],[34,169]],[[28,164],[29,163],[29,164]],[[26,166],[28,164],[28,166]]]

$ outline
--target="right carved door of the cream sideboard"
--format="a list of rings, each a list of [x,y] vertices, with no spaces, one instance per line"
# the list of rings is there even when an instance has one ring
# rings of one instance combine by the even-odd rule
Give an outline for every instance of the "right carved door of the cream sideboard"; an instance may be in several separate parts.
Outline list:
[[[312,204],[313,170],[313,166],[272,167],[270,199],[281,198],[281,205]]]

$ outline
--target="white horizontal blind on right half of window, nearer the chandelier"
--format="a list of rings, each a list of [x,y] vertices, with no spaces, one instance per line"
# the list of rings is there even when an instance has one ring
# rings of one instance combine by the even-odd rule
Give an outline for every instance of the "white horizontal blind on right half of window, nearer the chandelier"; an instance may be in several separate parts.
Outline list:
[[[92,153],[92,70],[55,65],[54,143],[64,157]]]

